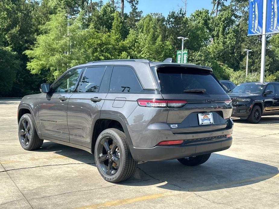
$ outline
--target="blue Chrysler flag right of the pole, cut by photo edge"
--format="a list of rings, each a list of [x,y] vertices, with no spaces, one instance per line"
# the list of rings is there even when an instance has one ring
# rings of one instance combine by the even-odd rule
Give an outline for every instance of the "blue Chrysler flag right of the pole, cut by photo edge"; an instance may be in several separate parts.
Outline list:
[[[266,33],[279,33],[279,0],[267,0]]]

